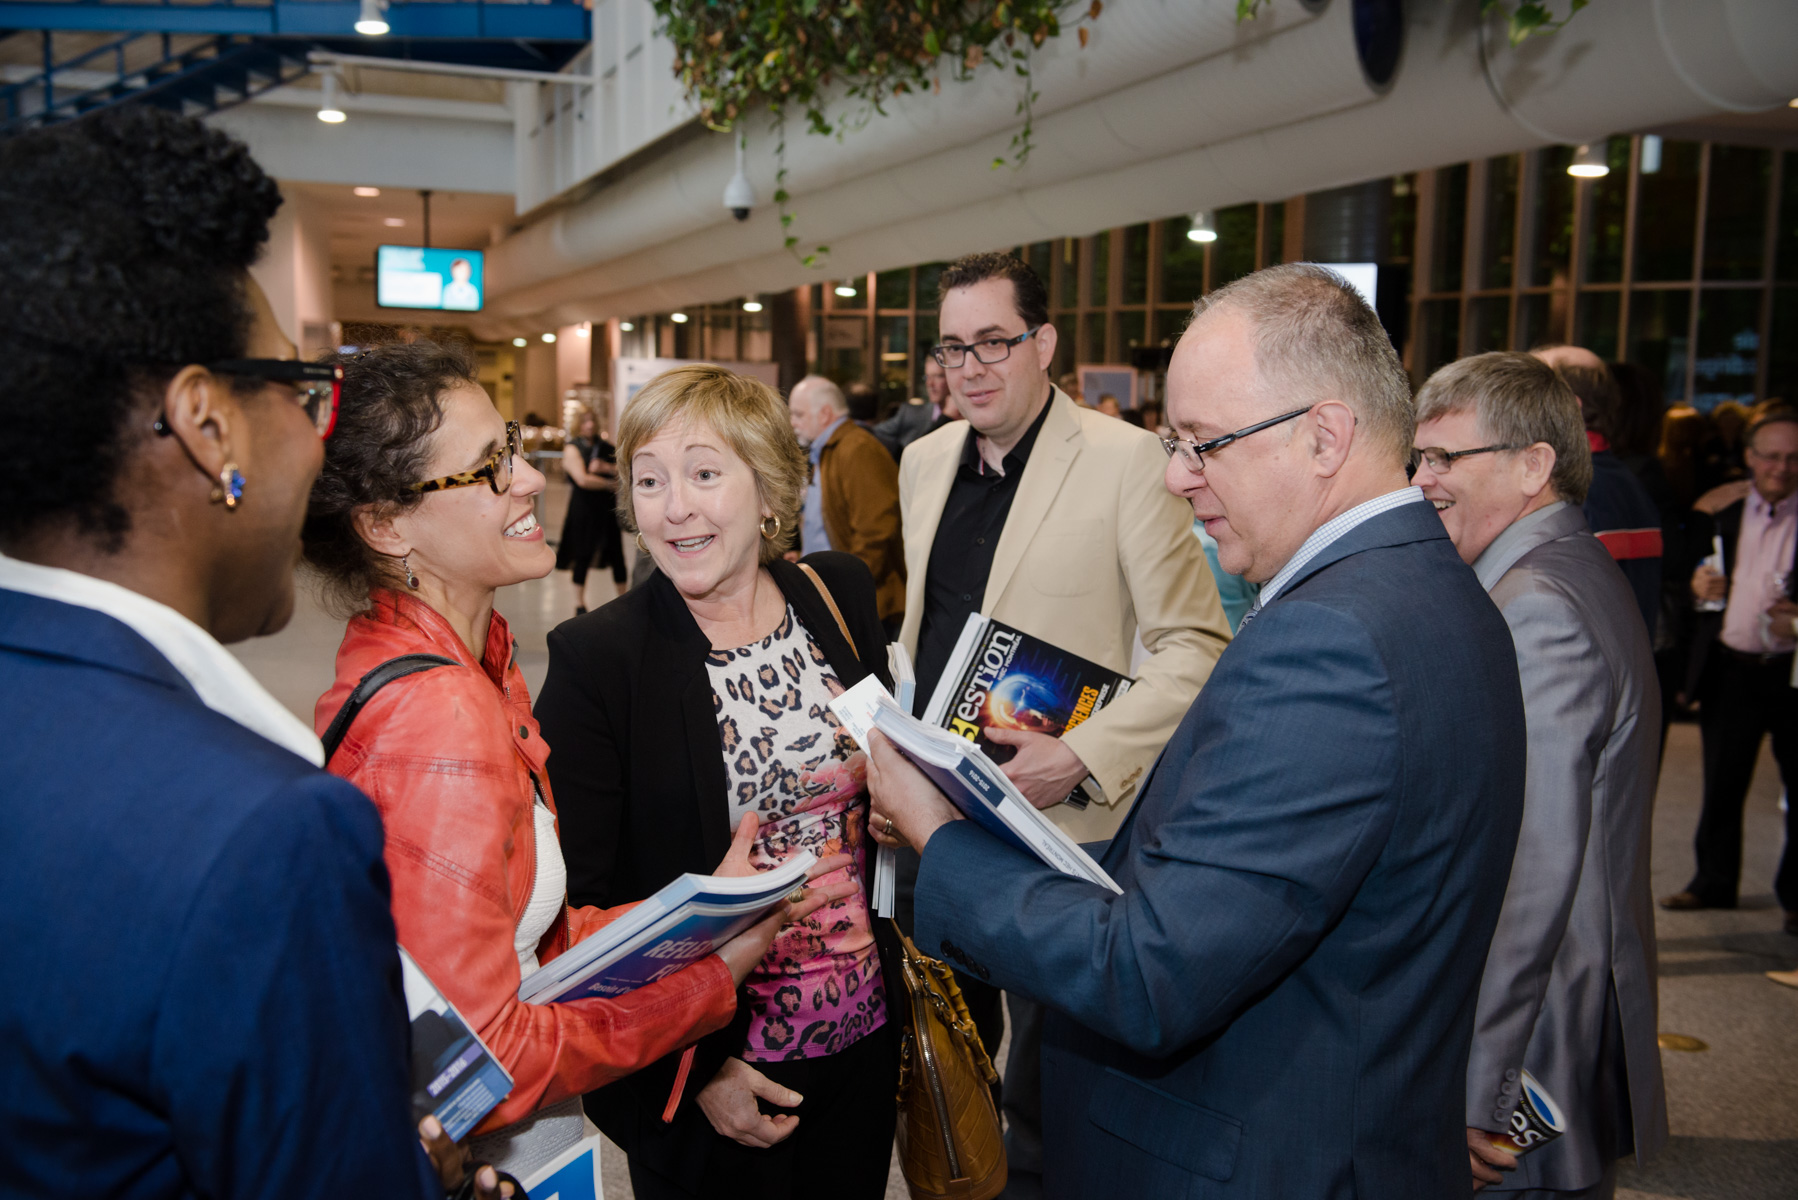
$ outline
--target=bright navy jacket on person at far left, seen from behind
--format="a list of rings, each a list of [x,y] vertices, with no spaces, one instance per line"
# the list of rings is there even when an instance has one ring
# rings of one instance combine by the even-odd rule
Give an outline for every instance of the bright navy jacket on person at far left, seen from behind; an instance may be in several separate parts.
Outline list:
[[[99,612],[0,680],[0,1195],[432,1195],[369,799]]]

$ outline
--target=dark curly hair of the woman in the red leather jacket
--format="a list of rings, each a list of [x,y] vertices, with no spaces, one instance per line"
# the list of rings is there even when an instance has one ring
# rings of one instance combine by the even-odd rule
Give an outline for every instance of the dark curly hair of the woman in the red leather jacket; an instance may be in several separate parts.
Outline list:
[[[356,533],[356,509],[374,506],[392,515],[424,498],[412,484],[424,479],[432,461],[444,392],[476,378],[467,349],[423,338],[329,354],[324,362],[343,367],[343,401],[306,506],[300,543],[306,563],[320,576],[325,606],[347,615],[367,608],[370,588],[397,583],[392,560]]]

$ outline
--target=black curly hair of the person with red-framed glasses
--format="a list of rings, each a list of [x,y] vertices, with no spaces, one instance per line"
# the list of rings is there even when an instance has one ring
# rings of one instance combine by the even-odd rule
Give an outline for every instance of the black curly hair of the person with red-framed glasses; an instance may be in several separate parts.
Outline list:
[[[0,475],[0,540],[67,522],[117,552],[140,410],[243,356],[277,207],[241,142],[160,108],[0,140],[0,444],[31,464]]]

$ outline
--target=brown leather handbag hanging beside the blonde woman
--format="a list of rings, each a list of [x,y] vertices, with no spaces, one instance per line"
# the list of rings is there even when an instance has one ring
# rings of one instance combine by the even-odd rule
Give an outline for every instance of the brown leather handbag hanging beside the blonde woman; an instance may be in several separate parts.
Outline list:
[[[895,927],[897,932],[897,927]],[[899,1042],[899,1169],[912,1200],[991,1200],[1005,1191],[998,1072],[955,972],[899,934],[912,1020]]]

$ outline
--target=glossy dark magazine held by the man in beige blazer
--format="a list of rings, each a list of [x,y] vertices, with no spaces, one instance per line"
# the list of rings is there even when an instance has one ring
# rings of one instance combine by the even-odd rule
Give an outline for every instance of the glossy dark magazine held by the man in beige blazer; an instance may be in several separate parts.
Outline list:
[[[1059,738],[1131,689],[1135,680],[1023,630],[969,613],[924,721],[978,741],[996,763],[1016,754],[989,729]]]

